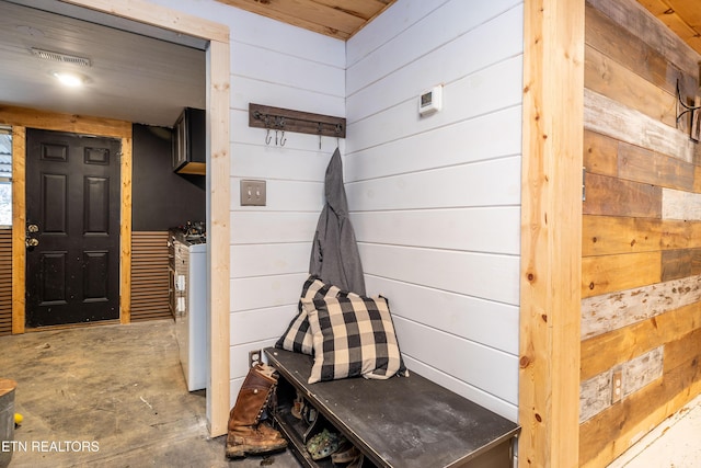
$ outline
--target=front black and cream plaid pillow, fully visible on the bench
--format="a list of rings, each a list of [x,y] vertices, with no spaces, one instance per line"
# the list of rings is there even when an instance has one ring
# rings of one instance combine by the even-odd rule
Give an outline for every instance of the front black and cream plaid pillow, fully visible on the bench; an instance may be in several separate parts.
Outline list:
[[[338,296],[302,300],[313,338],[309,384],[363,376],[407,376],[384,297]]]

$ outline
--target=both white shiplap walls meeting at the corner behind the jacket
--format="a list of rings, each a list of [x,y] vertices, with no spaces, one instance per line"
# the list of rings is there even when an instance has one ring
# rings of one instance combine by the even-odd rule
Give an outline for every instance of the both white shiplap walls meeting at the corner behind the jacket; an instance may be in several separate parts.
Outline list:
[[[295,313],[336,145],[265,146],[254,102],[348,118],[366,282],[409,367],[515,421],[522,1],[399,0],[346,44],[214,0],[154,1],[231,30],[231,404],[248,352]],[[418,118],[438,83],[444,111]],[[241,179],[267,181],[267,206],[240,206]]]

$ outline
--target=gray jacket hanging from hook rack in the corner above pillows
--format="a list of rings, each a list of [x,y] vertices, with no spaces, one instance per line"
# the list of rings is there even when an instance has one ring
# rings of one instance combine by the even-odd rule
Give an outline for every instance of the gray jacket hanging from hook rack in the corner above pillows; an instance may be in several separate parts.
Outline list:
[[[341,151],[334,151],[324,179],[326,204],[321,210],[311,248],[309,273],[342,290],[365,296],[365,278],[348,202],[343,185]]]

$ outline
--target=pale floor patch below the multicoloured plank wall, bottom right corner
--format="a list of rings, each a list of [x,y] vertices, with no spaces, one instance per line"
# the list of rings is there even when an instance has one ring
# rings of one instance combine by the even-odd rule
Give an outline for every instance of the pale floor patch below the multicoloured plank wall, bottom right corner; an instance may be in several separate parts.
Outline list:
[[[667,418],[608,468],[701,468],[701,396]]]

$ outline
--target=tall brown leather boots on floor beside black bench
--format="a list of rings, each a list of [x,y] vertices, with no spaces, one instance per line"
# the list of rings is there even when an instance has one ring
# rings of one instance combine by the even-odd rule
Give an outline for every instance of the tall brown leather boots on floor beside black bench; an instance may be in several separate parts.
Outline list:
[[[261,422],[261,415],[276,385],[277,377],[273,367],[258,364],[249,370],[229,413],[227,457],[265,454],[287,447],[287,441],[279,432]]]

